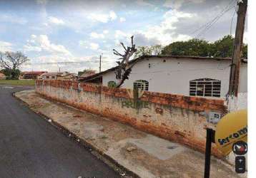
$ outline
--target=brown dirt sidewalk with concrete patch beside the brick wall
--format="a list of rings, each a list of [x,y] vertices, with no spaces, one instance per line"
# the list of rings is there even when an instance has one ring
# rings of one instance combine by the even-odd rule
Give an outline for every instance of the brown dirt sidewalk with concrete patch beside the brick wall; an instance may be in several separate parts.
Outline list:
[[[200,152],[106,117],[46,100],[34,90],[15,96],[139,177],[203,177],[205,157]],[[225,162],[212,157],[211,163],[211,178],[238,177]]]

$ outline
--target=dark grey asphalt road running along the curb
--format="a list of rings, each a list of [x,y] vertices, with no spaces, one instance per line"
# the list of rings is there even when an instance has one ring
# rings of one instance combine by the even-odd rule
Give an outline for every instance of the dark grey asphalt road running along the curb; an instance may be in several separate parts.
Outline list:
[[[0,177],[119,177],[0,85]]]

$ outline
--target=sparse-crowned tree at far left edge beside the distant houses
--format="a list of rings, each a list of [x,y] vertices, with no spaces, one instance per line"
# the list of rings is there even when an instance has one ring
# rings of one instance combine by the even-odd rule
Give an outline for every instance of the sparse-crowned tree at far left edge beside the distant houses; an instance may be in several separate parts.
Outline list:
[[[21,52],[0,52],[0,67],[6,75],[6,79],[18,79],[20,70],[19,67],[29,61],[29,59]]]

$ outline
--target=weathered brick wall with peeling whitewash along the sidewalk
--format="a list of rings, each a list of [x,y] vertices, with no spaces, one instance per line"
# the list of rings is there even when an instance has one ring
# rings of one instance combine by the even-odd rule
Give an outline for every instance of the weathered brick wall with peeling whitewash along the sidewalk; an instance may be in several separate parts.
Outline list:
[[[205,128],[215,127],[204,113],[227,112],[224,100],[152,92],[134,99],[131,90],[71,81],[36,80],[36,92],[202,152]],[[215,147],[212,151],[221,157]]]

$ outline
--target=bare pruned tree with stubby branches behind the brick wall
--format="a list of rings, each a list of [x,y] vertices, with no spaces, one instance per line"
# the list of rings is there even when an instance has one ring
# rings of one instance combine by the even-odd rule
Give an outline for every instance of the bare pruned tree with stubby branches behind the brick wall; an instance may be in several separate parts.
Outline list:
[[[128,76],[132,71],[132,67],[135,63],[129,64],[129,58],[132,57],[132,55],[137,51],[137,48],[135,48],[135,45],[133,43],[133,36],[131,37],[132,40],[132,46],[127,46],[127,48],[124,46],[124,43],[121,43],[122,47],[124,48],[124,54],[119,53],[117,50],[113,49],[114,54],[117,56],[121,56],[117,61],[118,68],[117,71],[115,71],[116,78],[119,80],[119,83],[117,84],[117,88],[119,88],[123,83],[124,80],[129,79]]]

